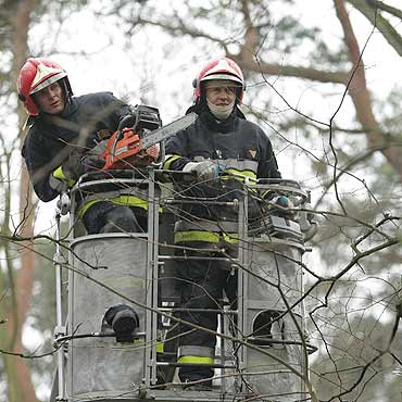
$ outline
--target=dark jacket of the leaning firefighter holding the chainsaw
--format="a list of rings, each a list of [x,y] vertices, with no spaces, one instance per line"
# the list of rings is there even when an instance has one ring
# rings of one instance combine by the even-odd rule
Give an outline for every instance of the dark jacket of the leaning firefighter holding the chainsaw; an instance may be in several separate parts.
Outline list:
[[[22,154],[39,199],[47,202],[58,197],[49,177],[71,152],[93,148],[102,139],[101,133],[113,133],[127,114],[128,104],[111,92],[98,92],[72,98],[61,114],[29,117]]]

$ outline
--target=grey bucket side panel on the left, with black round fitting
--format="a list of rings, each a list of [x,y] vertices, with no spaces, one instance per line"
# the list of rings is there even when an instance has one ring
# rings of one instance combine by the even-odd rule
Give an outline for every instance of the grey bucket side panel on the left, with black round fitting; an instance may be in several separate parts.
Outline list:
[[[124,297],[146,304],[147,243],[129,238],[91,239],[74,246],[73,265],[90,278],[73,274],[70,301],[71,332],[100,332],[102,318],[113,305],[131,306],[145,331],[145,309]],[[97,268],[95,268],[97,267]],[[122,297],[124,296],[124,297]],[[72,397],[113,397],[133,391],[143,376],[143,338],[117,343],[114,337],[74,339],[70,342]]]

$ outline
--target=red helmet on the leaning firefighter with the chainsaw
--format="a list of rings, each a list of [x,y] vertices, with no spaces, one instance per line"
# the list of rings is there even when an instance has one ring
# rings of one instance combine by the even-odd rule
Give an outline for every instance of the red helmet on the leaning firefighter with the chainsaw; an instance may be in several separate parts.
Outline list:
[[[63,79],[64,95],[70,98],[73,91],[67,73],[58,63],[43,58],[30,58],[25,62],[20,71],[17,88],[18,99],[24,102],[29,115],[37,116],[39,114],[39,109],[32,95],[60,79]]]

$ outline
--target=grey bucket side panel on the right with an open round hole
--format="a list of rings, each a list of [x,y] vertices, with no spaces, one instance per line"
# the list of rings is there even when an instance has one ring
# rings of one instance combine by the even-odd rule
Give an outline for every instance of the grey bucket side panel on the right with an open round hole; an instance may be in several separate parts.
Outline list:
[[[244,378],[254,392],[268,400],[304,398],[303,382],[292,372],[302,375],[305,370],[301,347],[304,310],[299,302],[303,294],[301,252],[289,246],[254,243],[249,261],[252,274],[248,276],[246,330],[260,351],[247,348]]]

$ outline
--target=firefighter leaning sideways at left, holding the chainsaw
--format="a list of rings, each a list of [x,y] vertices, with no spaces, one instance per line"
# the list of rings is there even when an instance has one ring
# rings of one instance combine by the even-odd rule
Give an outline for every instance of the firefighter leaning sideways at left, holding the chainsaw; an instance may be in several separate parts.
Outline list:
[[[111,92],[73,97],[67,73],[55,62],[30,58],[17,79],[18,99],[29,115],[22,154],[36,194],[48,202],[74,186],[80,175],[100,169],[100,154],[131,106]],[[118,198],[118,197],[117,197]],[[138,201],[138,200],[137,200]],[[141,231],[143,202],[91,200],[80,205],[88,234]],[[139,213],[137,213],[139,212]]]

